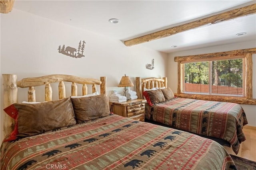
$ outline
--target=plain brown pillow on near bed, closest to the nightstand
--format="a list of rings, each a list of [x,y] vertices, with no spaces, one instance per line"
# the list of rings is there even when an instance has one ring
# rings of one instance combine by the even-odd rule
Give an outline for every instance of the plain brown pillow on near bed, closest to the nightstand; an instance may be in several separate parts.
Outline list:
[[[77,123],[109,115],[109,104],[106,95],[71,98]]]

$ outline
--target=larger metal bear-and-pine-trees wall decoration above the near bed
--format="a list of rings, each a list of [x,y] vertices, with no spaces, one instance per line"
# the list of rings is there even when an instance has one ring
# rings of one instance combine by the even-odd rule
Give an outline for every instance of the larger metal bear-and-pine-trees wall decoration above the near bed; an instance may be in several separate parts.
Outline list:
[[[84,47],[85,47],[86,42],[79,42],[78,43],[78,48],[74,48],[74,47],[65,47],[65,45],[62,45],[58,47],[58,51],[59,53],[62,53],[64,55],[70,56],[70,57],[74,57],[74,58],[82,58],[84,57],[83,53],[84,53]],[[76,53],[75,53],[76,52]]]

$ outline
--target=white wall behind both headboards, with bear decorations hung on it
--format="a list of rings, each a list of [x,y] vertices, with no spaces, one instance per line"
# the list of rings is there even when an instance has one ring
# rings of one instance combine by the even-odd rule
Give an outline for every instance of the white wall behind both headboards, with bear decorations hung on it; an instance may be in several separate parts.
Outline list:
[[[47,74],[72,74],[85,78],[107,77],[107,94],[111,90],[124,88],[117,85],[124,74],[135,77],[166,76],[167,54],[144,47],[126,47],[121,41],[104,37],[86,30],[64,25],[26,12],[13,9],[9,14],[1,14],[1,74],[17,74],[18,80]],[[58,53],[58,46],[78,47],[85,41],[85,57],[76,59]],[[155,68],[145,68],[151,60]],[[1,76],[2,82],[2,76]],[[67,89],[67,88],[66,88]],[[40,92],[42,90],[42,92]],[[131,90],[135,90],[132,87]],[[36,90],[36,98],[43,101],[44,90]],[[1,101],[2,100],[1,85]],[[18,102],[27,100],[27,91],[22,90]],[[69,93],[67,92],[68,96]],[[56,100],[58,94],[53,94]],[[3,104],[1,102],[0,132],[3,140]]]

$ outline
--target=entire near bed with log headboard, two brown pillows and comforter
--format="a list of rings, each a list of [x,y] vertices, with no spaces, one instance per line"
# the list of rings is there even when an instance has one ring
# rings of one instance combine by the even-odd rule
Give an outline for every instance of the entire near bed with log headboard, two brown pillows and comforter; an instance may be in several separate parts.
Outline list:
[[[2,76],[8,114],[4,114],[2,170],[236,169],[215,141],[110,113],[106,77],[54,74],[17,81],[14,74]],[[52,100],[50,84],[55,82],[59,100]],[[65,95],[64,82],[72,82],[71,97]],[[83,84],[82,96],[78,83]],[[92,94],[87,93],[89,84]],[[36,86],[41,85],[46,102],[36,102]],[[28,88],[28,102],[18,103],[20,88]]]

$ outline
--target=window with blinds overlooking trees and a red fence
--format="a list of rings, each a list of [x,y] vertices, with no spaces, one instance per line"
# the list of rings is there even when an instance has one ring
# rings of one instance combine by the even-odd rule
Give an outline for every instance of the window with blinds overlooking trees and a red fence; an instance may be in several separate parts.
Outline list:
[[[182,64],[182,92],[245,96],[244,57]]]

